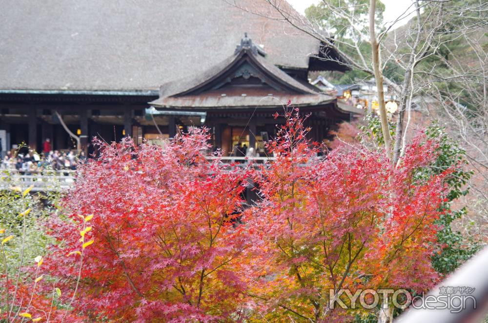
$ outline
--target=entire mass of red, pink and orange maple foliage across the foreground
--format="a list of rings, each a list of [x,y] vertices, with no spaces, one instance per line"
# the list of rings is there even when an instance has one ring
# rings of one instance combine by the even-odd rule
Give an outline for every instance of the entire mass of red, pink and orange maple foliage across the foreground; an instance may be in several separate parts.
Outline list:
[[[267,143],[276,160],[246,171],[205,158],[205,129],[164,147],[97,141],[48,224],[57,243],[43,270],[69,307],[56,317],[320,322],[355,314],[329,306],[344,288],[432,286],[448,171],[418,169],[436,142],[418,136],[395,168],[362,146],[317,158],[298,111],[285,120]],[[248,177],[260,199],[242,212]]]

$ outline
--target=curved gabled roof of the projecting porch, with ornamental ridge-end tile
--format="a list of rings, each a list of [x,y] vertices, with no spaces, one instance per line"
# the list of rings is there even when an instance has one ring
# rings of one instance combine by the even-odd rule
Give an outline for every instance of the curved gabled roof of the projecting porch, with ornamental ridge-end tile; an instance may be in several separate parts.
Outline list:
[[[245,35],[234,55],[202,74],[163,84],[160,98],[150,104],[156,108],[221,110],[280,107],[287,101],[300,107],[324,106],[336,98],[286,74]]]

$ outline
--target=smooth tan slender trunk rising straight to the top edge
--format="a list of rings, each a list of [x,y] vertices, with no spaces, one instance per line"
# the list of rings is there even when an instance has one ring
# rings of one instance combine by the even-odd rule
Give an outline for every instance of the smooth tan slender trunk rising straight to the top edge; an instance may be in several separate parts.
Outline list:
[[[376,33],[374,31],[374,14],[376,9],[376,0],[369,0],[369,37],[371,41],[371,48],[373,54],[373,71],[374,78],[376,80],[376,89],[378,91],[378,105],[380,110],[381,130],[383,138],[385,139],[386,155],[393,162],[393,156],[391,151],[391,135],[386,118],[385,107],[385,93],[383,92],[383,73],[380,65],[380,45],[376,39]]]

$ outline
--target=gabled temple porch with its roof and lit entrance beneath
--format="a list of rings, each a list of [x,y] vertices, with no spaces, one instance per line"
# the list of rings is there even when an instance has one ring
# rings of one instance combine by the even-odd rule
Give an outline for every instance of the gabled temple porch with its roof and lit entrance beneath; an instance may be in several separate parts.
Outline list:
[[[235,145],[263,150],[263,141],[275,134],[276,112],[283,115],[288,102],[310,115],[311,139],[322,141],[331,127],[350,121],[355,109],[339,108],[337,99],[320,93],[266,60],[262,48],[245,34],[233,55],[226,60],[184,81],[165,83],[160,98],[151,106],[168,113],[202,113],[200,119],[186,118],[187,125],[205,125],[214,134],[214,147],[232,152]],[[170,124],[175,124],[170,117]],[[183,127],[183,124],[180,125]],[[176,127],[170,127],[173,136]]]

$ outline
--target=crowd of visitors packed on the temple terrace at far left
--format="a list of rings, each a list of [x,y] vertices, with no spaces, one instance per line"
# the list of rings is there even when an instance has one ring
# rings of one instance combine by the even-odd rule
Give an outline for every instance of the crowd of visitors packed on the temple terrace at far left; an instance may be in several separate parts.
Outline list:
[[[73,150],[52,150],[49,139],[44,141],[42,153],[23,147],[23,149],[7,151],[0,164],[0,169],[17,170],[28,174],[45,170],[76,170],[76,167],[86,162],[83,151],[80,154]]]

